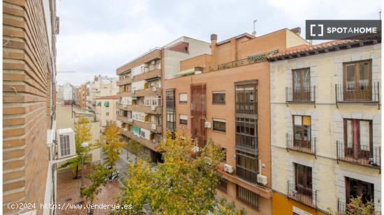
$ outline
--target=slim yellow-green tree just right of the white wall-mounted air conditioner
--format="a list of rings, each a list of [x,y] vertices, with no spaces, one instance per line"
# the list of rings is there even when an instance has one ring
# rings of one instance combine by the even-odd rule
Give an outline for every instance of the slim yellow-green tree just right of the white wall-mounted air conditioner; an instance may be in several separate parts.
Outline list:
[[[91,141],[91,124],[89,123],[87,118],[79,118],[77,120],[77,123],[75,124],[75,147],[77,157],[66,161],[65,164],[60,166],[60,168],[66,168],[67,166],[69,166],[72,169],[76,169],[75,179],[80,178],[78,173],[79,166],[82,165],[82,159],[84,159],[84,162],[87,162],[89,160],[91,144],[89,144],[89,146],[85,148],[81,146],[82,143],[89,141]]]

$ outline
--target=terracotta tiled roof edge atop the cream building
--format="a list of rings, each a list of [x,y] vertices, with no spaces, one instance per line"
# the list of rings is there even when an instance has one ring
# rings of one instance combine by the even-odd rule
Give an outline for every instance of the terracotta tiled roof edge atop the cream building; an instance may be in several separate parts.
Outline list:
[[[373,45],[381,40],[368,39],[368,40],[331,40],[316,45],[298,45],[290,47],[286,51],[268,56],[269,61],[281,61],[286,58],[298,58],[302,56],[309,56],[319,53],[327,53],[328,51],[339,51],[340,49],[350,49],[353,47],[362,47],[364,45]]]

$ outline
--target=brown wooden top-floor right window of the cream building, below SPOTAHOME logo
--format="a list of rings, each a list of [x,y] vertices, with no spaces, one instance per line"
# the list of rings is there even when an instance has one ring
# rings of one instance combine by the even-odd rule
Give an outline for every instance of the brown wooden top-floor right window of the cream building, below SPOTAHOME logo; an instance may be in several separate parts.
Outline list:
[[[344,63],[344,100],[371,100],[371,61]]]

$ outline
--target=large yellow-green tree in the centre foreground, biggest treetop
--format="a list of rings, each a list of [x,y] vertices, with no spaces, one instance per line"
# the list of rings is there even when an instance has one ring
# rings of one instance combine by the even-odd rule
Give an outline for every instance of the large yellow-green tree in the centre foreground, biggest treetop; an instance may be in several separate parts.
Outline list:
[[[133,214],[148,204],[152,212],[162,214],[237,214],[234,206],[215,199],[221,177],[218,166],[223,157],[220,148],[209,140],[193,159],[195,145],[182,132],[176,132],[175,139],[168,133],[159,148],[163,164],[155,170],[142,159],[130,164],[119,203],[132,205],[133,209],[116,213]]]

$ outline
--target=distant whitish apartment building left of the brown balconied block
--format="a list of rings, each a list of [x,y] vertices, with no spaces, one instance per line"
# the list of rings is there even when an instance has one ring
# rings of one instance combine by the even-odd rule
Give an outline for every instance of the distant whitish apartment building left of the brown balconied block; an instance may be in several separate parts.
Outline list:
[[[87,110],[95,112],[97,97],[116,95],[118,88],[116,85],[117,79],[108,76],[98,75],[94,77],[94,81],[89,81],[89,86],[87,86]]]

